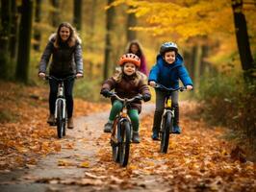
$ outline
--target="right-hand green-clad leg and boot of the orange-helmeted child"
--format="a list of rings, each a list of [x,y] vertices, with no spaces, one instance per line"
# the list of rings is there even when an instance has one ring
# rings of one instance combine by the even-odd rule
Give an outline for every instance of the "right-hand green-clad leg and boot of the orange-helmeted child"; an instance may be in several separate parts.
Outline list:
[[[140,135],[139,135],[139,126],[140,126],[140,120],[139,120],[139,111],[138,109],[130,109],[128,111],[128,115],[132,121],[133,125],[133,135],[132,140],[134,143],[140,143]]]

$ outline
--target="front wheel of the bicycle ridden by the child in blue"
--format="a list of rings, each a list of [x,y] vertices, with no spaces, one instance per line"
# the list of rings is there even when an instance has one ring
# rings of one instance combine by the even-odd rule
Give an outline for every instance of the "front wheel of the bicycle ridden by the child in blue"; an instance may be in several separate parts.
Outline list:
[[[172,120],[171,120],[171,113],[166,112],[166,115],[164,117],[164,125],[162,129],[162,135],[161,135],[161,147],[160,151],[161,153],[167,153],[168,150],[168,142],[169,142],[169,131],[172,130]]]

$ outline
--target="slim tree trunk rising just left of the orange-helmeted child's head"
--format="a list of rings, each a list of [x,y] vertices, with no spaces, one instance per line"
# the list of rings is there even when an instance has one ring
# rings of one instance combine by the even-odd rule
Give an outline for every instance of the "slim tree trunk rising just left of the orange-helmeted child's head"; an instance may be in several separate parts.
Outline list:
[[[114,0],[108,0],[108,6],[111,5]],[[107,10],[106,16],[106,39],[105,39],[105,60],[103,78],[106,80],[109,77],[109,68],[111,68],[111,53],[112,53],[112,41],[111,33],[114,28],[115,9],[111,7]]]

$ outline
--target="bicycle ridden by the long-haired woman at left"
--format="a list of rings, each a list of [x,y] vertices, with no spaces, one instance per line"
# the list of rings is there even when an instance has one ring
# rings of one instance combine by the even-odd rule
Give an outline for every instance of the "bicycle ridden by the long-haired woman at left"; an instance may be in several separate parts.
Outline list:
[[[76,75],[68,76],[64,79],[59,79],[54,76],[46,75],[45,80],[55,80],[58,82],[58,94],[57,99],[55,102],[55,124],[50,124],[51,126],[57,125],[57,135],[59,138],[65,136],[65,124],[67,121],[67,114],[66,114],[66,103],[64,98],[64,81],[75,79]]]

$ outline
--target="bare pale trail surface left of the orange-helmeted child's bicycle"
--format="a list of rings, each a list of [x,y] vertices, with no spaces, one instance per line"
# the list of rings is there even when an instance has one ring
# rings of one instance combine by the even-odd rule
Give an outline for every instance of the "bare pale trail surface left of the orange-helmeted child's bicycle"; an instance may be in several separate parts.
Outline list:
[[[153,109],[153,105],[146,105],[141,117],[152,113]],[[106,123],[108,115],[109,111],[105,111],[76,118],[75,129],[67,130],[66,136],[60,140],[62,145],[60,153],[41,158],[37,166],[1,173],[0,191],[118,190],[117,179],[113,179],[112,186],[101,186],[97,181],[93,181],[96,176],[89,174],[90,168],[95,168],[94,166],[97,166],[96,164],[100,161],[96,156],[100,146],[97,139],[103,134],[103,125]],[[105,144],[104,142],[103,145]],[[85,179],[85,176],[90,179]],[[148,177],[145,182],[149,182],[148,186],[153,186],[156,184],[156,180]],[[145,186],[141,185],[143,189]]]

